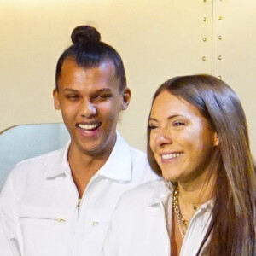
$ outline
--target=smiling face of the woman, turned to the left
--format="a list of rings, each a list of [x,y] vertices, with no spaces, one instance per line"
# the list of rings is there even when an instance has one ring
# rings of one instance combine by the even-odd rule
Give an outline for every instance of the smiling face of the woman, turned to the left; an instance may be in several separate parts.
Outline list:
[[[194,105],[164,90],[154,100],[148,125],[150,148],[166,180],[206,177],[218,136]]]

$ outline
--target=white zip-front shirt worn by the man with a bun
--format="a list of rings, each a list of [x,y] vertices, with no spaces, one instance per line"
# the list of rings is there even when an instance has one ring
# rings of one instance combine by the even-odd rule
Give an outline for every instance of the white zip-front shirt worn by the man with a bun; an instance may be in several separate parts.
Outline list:
[[[118,135],[82,201],[66,148],[20,162],[0,195],[1,256],[95,256],[125,190],[156,179],[146,155]]]

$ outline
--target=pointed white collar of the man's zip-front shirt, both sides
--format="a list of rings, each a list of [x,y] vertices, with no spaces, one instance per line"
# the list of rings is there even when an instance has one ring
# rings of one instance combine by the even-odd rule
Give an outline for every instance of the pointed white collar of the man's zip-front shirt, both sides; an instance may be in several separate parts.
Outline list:
[[[60,154],[57,154],[52,165],[49,166],[45,177],[57,177],[61,174],[71,173],[67,153],[70,141],[65,148],[61,148]],[[129,145],[123,137],[117,132],[116,143],[106,163],[99,169],[97,174],[120,181],[131,180],[131,151]]]

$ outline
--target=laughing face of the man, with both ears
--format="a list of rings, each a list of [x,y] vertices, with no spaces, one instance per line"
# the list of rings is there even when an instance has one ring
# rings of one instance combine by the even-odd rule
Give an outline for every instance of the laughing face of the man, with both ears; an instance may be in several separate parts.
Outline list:
[[[72,58],[63,62],[54,102],[71,136],[69,150],[108,157],[115,143],[119,112],[128,107],[131,96],[128,88],[120,91],[119,87],[112,61],[86,69]]]

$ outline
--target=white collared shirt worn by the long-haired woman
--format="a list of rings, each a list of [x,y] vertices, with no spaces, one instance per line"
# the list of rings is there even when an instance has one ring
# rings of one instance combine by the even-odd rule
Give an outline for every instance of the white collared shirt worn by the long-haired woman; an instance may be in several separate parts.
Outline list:
[[[113,213],[101,256],[170,256],[166,202],[172,186],[157,180],[122,195]],[[169,204],[168,203],[168,204]],[[212,202],[202,205],[189,223],[180,256],[195,256],[210,224]],[[168,214],[172,215],[171,211]],[[172,219],[172,216],[170,217]]]

